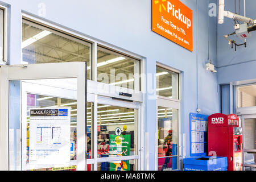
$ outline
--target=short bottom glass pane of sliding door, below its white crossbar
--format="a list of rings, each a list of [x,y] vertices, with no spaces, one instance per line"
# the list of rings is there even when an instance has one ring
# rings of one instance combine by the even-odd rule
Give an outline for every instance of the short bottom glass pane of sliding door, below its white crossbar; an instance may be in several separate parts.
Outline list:
[[[98,163],[98,171],[137,171],[138,160],[118,160]]]

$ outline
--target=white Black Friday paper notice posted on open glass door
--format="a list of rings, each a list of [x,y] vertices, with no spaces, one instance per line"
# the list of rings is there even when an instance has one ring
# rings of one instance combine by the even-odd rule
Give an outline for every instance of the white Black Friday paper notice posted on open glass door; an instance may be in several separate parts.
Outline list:
[[[30,164],[70,160],[71,108],[30,109]]]

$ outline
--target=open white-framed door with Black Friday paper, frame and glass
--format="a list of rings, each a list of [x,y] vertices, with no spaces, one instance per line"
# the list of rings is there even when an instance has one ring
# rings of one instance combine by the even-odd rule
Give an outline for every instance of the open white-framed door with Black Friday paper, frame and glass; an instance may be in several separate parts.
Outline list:
[[[7,65],[0,73],[1,121],[9,122],[0,127],[0,169],[84,170],[86,63]]]

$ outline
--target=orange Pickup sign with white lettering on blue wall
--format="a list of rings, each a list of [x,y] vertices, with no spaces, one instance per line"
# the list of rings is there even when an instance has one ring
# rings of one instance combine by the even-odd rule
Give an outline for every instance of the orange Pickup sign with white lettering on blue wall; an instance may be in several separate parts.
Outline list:
[[[179,0],[152,0],[152,31],[193,51],[193,11]]]

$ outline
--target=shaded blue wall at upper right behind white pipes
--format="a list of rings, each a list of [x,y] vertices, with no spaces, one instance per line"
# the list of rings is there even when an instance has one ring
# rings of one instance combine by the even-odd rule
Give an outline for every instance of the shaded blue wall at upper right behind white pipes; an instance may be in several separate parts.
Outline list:
[[[225,1],[225,10],[234,13],[234,1]],[[246,0],[246,16],[256,19],[256,1]],[[237,1],[238,9],[238,1]],[[241,1],[241,15],[243,15],[243,1]],[[234,21],[229,18],[224,18],[224,24],[218,24],[218,83],[228,84],[229,82],[251,80],[256,78],[256,32],[251,32],[253,35],[246,40],[247,47],[237,47],[234,51],[224,39],[223,35],[234,32]],[[233,38],[238,44],[243,43],[243,40]]]

